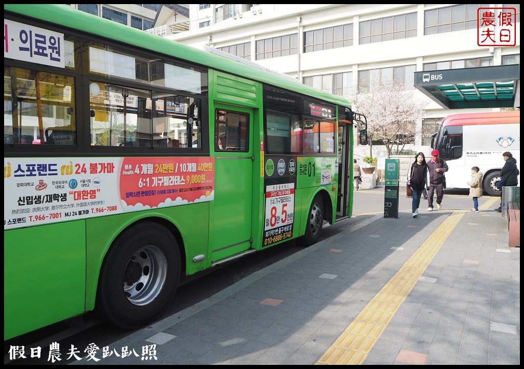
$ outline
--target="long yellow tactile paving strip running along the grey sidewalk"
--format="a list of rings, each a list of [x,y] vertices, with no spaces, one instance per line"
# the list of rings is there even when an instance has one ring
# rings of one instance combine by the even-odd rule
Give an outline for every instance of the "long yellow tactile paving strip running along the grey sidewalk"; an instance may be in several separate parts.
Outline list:
[[[486,209],[497,198],[483,204]],[[454,210],[369,301],[316,365],[362,364],[440,247],[469,210]]]

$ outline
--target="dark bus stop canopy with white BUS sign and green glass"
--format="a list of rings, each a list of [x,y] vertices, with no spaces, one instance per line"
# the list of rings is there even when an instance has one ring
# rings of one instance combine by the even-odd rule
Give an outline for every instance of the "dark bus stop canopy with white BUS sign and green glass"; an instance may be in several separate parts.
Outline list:
[[[520,64],[415,72],[413,86],[445,109],[520,109]]]

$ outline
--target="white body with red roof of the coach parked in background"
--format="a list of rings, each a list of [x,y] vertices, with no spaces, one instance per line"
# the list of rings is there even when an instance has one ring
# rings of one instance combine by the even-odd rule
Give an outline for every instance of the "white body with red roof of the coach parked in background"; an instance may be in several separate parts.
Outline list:
[[[460,153],[454,152],[446,159],[446,142],[444,131],[462,136]],[[511,152],[517,160],[520,170],[520,111],[504,111],[489,113],[452,114],[446,117],[439,132],[437,145],[449,170],[446,172],[446,185],[452,188],[468,188],[471,180],[471,168],[478,166],[486,178],[488,175],[498,175],[504,166],[502,154]],[[486,188],[484,191],[493,191]]]

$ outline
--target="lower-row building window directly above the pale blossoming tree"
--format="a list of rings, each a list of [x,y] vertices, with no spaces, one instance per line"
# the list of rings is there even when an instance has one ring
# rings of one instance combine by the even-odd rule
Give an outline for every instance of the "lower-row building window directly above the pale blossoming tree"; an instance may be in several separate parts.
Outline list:
[[[380,86],[403,85],[413,90],[416,66],[407,65],[358,71],[358,93],[375,92]]]

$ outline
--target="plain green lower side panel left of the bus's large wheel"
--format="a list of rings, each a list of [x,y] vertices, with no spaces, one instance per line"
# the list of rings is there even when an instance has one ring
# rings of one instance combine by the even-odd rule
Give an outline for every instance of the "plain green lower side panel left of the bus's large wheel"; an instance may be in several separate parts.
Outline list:
[[[85,241],[84,220],[4,231],[4,340],[84,312]]]

